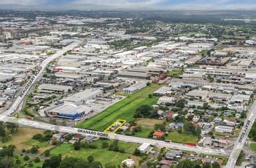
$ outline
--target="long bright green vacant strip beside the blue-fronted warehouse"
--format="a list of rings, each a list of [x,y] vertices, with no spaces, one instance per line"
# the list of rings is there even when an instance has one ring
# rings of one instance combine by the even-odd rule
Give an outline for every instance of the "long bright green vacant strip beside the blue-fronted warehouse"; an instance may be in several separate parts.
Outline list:
[[[80,123],[78,127],[92,129],[97,131],[104,131],[117,119],[125,119],[132,121],[134,119],[135,110],[141,105],[153,105],[158,100],[158,97],[148,98],[148,95],[160,88],[161,85],[151,84],[132,95],[128,95],[118,103],[108,107],[98,115],[88,119],[84,123]]]

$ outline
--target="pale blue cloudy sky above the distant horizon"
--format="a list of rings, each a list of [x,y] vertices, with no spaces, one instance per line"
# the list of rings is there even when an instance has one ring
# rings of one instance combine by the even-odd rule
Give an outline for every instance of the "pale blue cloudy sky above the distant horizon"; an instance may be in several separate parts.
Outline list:
[[[102,9],[256,9],[256,0],[0,0],[0,5],[100,6]]]

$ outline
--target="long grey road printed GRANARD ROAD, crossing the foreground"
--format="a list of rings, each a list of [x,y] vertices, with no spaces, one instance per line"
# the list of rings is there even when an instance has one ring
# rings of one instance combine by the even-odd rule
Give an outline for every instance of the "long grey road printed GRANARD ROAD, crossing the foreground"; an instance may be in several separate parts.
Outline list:
[[[5,121],[9,123],[17,123],[18,125],[35,127],[38,129],[46,129],[51,131],[60,131],[65,133],[79,133],[81,135],[90,135],[94,137],[104,137],[108,139],[132,142],[132,143],[150,143],[151,145],[157,145],[158,147],[167,147],[172,149],[179,149],[185,151],[194,151],[196,153],[205,153],[207,155],[220,155],[227,157],[229,153],[227,151],[221,151],[219,149],[209,149],[204,147],[191,147],[188,145],[183,145],[180,143],[169,143],[166,141],[160,141],[155,139],[147,139],[140,137],[132,137],[128,135],[119,135],[116,133],[104,133],[100,131],[92,131],[88,129],[79,129],[75,127],[65,127],[58,125],[51,125],[49,123],[40,123],[37,121],[32,121],[29,119],[18,119],[16,117],[9,117],[6,115],[0,115],[0,121]]]

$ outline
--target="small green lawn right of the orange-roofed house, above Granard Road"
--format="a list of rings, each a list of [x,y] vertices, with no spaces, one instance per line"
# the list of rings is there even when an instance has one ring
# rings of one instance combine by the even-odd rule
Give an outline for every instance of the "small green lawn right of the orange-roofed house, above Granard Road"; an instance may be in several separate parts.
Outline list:
[[[176,143],[197,143],[197,140],[199,138],[194,135],[187,135],[184,133],[171,132],[171,133],[168,133],[168,136],[165,139],[168,139],[168,140],[170,140],[172,142],[176,142]]]

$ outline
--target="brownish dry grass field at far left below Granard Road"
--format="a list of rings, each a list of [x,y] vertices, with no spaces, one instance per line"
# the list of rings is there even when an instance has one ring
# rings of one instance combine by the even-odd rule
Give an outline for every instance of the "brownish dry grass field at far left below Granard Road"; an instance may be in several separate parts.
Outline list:
[[[37,133],[43,133],[43,130],[28,127],[20,127],[17,133],[13,133],[11,140],[7,141],[6,143],[2,143],[0,141],[0,147],[3,147],[4,145],[13,144],[15,145],[17,151],[21,151],[22,149],[31,149],[33,145],[39,145],[39,153],[43,153],[43,151],[50,149],[52,145],[49,145],[46,142],[41,143],[39,141],[33,140],[33,135]]]

